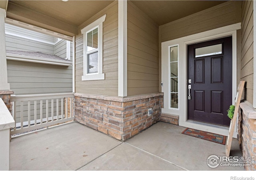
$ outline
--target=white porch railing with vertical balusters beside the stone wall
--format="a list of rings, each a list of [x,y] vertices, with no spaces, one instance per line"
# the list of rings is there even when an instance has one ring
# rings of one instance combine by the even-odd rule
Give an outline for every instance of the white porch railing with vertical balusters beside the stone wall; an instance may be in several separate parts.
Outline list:
[[[11,96],[11,135],[74,120],[74,93]]]

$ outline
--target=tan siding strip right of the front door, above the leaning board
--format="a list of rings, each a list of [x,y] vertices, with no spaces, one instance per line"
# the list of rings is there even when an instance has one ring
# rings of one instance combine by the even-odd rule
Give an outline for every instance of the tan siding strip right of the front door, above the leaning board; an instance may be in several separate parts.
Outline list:
[[[253,1],[242,1],[241,80],[246,81],[244,98],[253,104]]]

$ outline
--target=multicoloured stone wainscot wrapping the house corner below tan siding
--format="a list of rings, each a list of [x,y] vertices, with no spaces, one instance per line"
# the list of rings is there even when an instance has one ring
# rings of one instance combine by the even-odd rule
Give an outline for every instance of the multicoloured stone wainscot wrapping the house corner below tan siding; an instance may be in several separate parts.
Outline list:
[[[159,121],[163,94],[126,98],[75,93],[75,121],[127,140]],[[153,114],[148,116],[148,109]]]

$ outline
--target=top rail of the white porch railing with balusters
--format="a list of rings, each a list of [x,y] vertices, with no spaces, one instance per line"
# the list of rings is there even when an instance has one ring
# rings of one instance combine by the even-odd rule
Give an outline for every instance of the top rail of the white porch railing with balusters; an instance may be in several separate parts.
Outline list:
[[[55,93],[55,94],[31,94],[31,95],[11,95],[10,100],[12,102],[28,101],[28,100],[45,100],[56,98],[72,98],[74,93]]]

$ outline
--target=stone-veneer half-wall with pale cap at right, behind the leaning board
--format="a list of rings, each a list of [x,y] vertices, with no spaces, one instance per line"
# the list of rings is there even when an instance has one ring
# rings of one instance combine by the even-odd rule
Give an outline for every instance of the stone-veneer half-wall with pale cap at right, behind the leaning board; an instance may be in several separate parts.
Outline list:
[[[243,157],[247,160],[254,157],[254,165],[245,166],[245,169],[256,170],[256,111],[245,102],[240,103],[238,110],[238,134]]]

